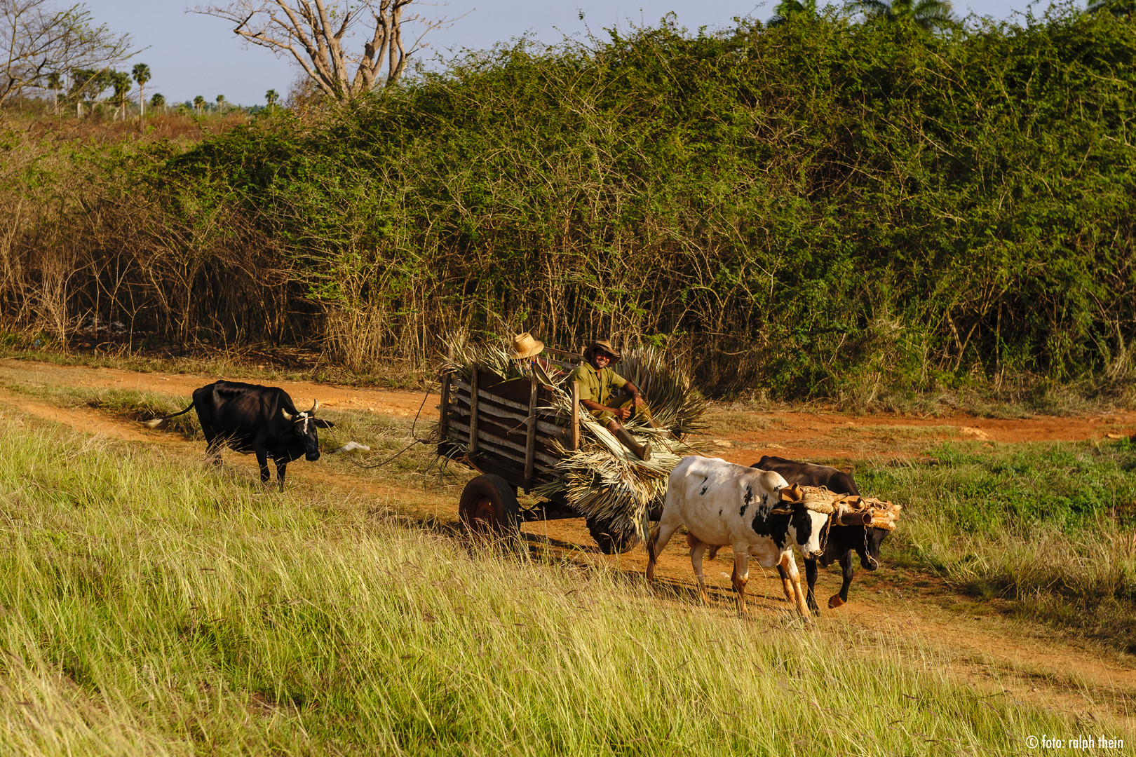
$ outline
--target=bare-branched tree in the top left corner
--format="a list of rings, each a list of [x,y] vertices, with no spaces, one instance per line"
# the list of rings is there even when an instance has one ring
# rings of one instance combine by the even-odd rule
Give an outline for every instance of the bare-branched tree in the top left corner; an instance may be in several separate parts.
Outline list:
[[[94,26],[82,3],[62,10],[51,0],[0,0],[0,104],[48,75],[102,69],[130,57],[130,35]]]

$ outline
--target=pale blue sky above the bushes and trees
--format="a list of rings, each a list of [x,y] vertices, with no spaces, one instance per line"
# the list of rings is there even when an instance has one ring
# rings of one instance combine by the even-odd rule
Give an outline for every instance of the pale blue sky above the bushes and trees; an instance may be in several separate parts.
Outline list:
[[[955,0],[955,11],[975,11],[1008,18],[1026,9],[1028,0]],[[125,66],[150,66],[153,78],[147,98],[160,92],[167,102],[218,94],[234,104],[262,104],[265,92],[286,95],[300,69],[287,59],[262,48],[242,45],[231,24],[219,18],[187,12],[185,0],[85,0],[98,23],[130,34],[141,49]],[[605,27],[655,24],[674,10],[682,26],[717,28],[729,26],[735,16],[767,20],[777,0],[449,0],[420,7],[432,17],[457,20],[449,28],[432,32],[424,60],[437,54],[452,57],[462,48],[484,49],[527,34],[542,42],[566,35],[602,32]],[[1046,2],[1037,3],[1044,8]],[[195,6],[193,6],[195,7]],[[580,20],[579,15],[584,14]],[[403,36],[407,32],[403,32]]]

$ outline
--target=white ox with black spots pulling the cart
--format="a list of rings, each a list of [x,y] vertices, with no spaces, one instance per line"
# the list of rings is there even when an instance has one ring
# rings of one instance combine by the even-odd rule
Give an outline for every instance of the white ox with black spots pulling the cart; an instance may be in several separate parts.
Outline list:
[[[670,472],[662,518],[646,542],[648,580],[654,580],[655,560],[670,537],[685,525],[702,602],[707,602],[702,555],[708,547],[729,546],[734,549],[733,582],[740,614],[747,614],[745,583],[752,556],[762,567],[783,569],[785,598],[811,622],[793,547],[805,558],[819,556],[828,514],[804,503],[782,502],[780,490],[786,486],[780,473],[774,471],[735,465],[718,457],[684,457]]]

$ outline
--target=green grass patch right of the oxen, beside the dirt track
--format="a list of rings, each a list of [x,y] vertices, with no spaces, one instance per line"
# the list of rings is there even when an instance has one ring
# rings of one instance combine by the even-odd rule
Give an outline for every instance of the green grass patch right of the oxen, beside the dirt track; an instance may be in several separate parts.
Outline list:
[[[857,473],[863,490],[907,505],[889,557],[1136,654],[1136,446],[952,443],[933,454]]]

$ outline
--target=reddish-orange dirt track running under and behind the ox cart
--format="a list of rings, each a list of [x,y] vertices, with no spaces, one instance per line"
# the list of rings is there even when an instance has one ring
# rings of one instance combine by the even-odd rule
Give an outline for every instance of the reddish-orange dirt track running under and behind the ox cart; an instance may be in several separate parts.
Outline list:
[[[65,368],[45,363],[0,360],[0,385],[47,384],[87,388],[119,388],[185,396],[217,377],[169,373],[135,373],[115,369]],[[314,398],[327,409],[350,409],[408,418],[418,412],[423,395],[407,392],[356,389],[307,382],[284,382],[296,404]],[[159,445],[177,454],[200,454],[200,443],[190,443],[162,431],[150,431],[87,409],[64,409],[0,389],[0,404],[31,415],[69,426],[85,434],[102,434],[128,441]],[[427,401],[423,417],[435,413]],[[716,417],[712,437],[721,456],[750,464],[762,454],[808,456],[855,464],[878,457],[908,457],[936,439],[979,439],[997,443],[1035,440],[1083,440],[1108,435],[1136,432],[1136,413],[1091,418],[1031,418],[1022,420],[934,418],[912,419],[871,415],[851,418],[838,413],[779,412],[721,413]],[[228,454],[227,464],[254,466],[248,456]],[[409,491],[384,485],[374,476],[333,476],[319,463],[290,466],[290,479],[318,481],[369,496],[401,495],[411,501],[414,515],[456,519],[456,502],[449,496]],[[620,570],[642,574],[645,555],[641,549],[617,557],[600,555],[580,520],[531,523],[526,531],[545,537],[552,548],[577,560],[609,561]],[[885,545],[886,557],[886,545]],[[752,563],[751,563],[752,565]],[[711,588],[711,612],[729,614],[730,557],[724,550],[705,565]],[[755,625],[785,622],[788,605],[774,571],[751,569],[749,586]],[[676,540],[662,555],[660,578],[673,590],[673,602],[693,606],[690,560]],[[818,597],[840,587],[838,573],[822,571]],[[992,607],[995,612],[992,612]],[[952,661],[951,673],[977,685],[988,687],[1020,699],[1044,703],[1088,715],[1111,710],[1129,727],[1136,726],[1136,659],[1089,645],[1055,638],[1041,626],[1029,626],[996,612],[996,604],[979,604],[953,595],[933,575],[897,573],[886,567],[875,574],[858,569],[851,602],[840,611],[825,611],[819,626],[850,623],[866,632],[884,633],[901,645],[932,646]]]

